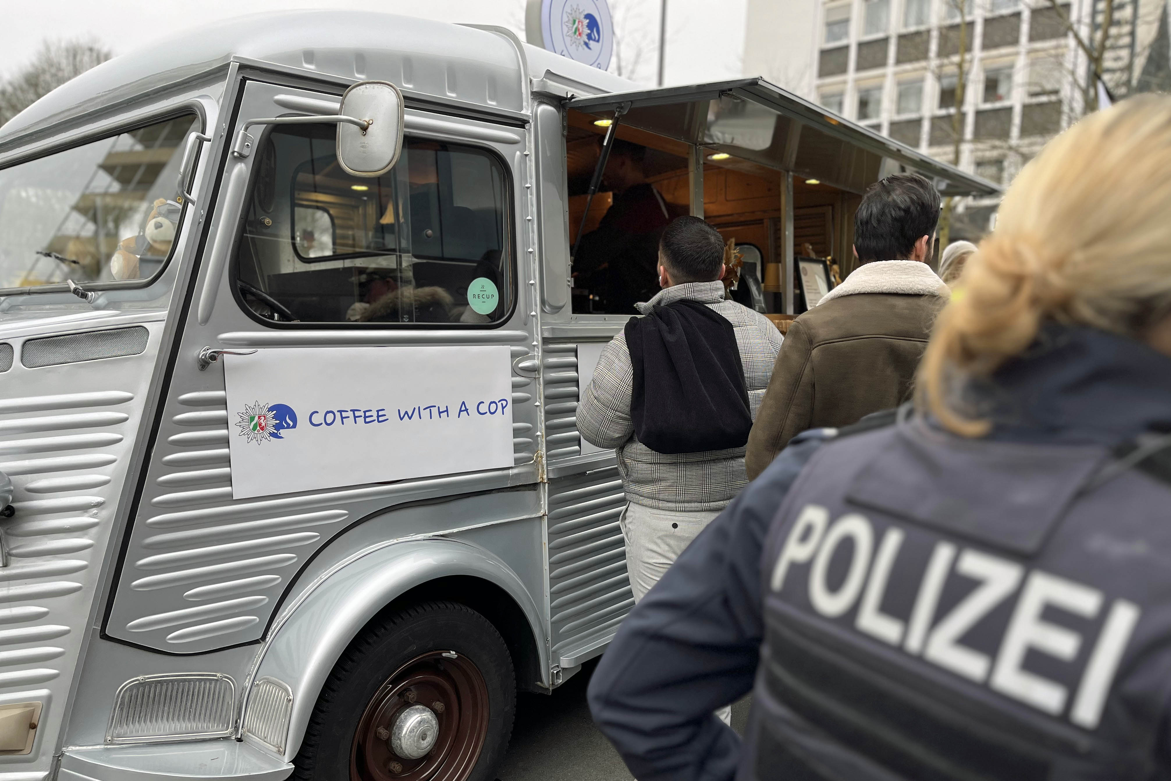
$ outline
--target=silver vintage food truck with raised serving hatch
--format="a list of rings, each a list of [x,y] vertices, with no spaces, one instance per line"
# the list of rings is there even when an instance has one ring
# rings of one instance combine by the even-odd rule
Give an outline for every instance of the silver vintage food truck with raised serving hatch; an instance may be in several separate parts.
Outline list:
[[[374,13],[40,100],[0,129],[0,781],[494,779],[632,604],[575,427],[625,282],[571,247],[705,215],[783,324],[905,170],[997,193],[759,78]]]

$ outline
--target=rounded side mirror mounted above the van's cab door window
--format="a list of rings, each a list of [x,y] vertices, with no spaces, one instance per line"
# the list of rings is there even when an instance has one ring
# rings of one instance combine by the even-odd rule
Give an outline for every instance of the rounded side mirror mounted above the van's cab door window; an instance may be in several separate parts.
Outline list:
[[[403,94],[385,81],[364,81],[342,95],[340,114],[362,119],[337,126],[337,160],[356,177],[381,177],[403,151]]]

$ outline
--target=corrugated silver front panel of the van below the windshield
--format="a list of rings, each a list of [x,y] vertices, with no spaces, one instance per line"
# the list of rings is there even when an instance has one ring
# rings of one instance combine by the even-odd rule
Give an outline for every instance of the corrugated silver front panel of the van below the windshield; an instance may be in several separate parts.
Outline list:
[[[138,337],[146,334],[138,355],[32,369],[16,361],[4,375],[0,471],[12,478],[15,515],[0,522],[8,554],[0,567],[0,697],[44,703],[32,754],[8,765],[21,777],[48,773],[60,746],[61,708],[136,444],[158,316],[144,313],[145,326],[135,326]],[[52,333],[36,326],[27,330]],[[69,317],[54,326],[84,327]],[[11,335],[8,343],[16,352],[28,344]],[[18,773],[0,774],[8,775]]]

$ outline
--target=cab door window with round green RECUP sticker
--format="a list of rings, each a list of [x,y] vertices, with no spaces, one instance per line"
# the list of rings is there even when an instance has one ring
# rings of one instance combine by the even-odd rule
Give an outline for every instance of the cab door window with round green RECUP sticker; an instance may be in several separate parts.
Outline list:
[[[276,322],[502,321],[514,263],[499,158],[408,138],[393,169],[359,178],[335,132],[276,128],[261,144],[237,253],[244,303]]]

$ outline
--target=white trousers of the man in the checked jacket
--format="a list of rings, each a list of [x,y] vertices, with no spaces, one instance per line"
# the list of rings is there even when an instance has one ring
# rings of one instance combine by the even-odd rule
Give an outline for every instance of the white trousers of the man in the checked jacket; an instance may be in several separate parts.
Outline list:
[[[718,509],[653,509],[628,502],[618,519],[626,540],[626,571],[635,602],[651,590],[679,554],[720,514]],[[718,708],[715,715],[732,726],[732,706]]]

